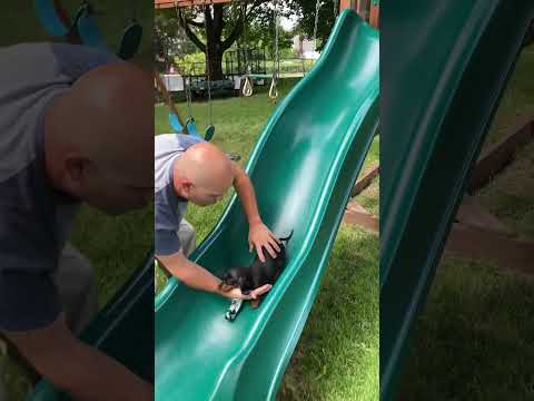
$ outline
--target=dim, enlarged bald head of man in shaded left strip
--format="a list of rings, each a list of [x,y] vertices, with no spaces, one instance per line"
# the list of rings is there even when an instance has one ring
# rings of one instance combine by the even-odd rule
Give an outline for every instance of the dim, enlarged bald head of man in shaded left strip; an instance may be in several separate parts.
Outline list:
[[[69,188],[77,183],[69,178],[68,157],[86,160],[117,186],[150,188],[154,186],[152,148],[151,76],[129,62],[86,72],[47,110],[47,172],[60,188],[75,194],[79,189],[78,196],[82,199],[92,194]]]

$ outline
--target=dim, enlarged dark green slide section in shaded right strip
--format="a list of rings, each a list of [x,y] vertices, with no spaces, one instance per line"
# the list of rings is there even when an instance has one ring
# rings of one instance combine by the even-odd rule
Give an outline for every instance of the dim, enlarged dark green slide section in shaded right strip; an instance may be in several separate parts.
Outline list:
[[[380,400],[392,400],[534,1],[389,1],[380,18]]]

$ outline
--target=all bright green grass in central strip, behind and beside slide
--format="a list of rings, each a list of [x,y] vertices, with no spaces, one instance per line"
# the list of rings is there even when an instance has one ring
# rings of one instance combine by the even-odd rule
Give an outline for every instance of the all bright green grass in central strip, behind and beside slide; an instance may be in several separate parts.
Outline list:
[[[296,80],[281,80],[280,97]],[[184,104],[178,105],[186,110]],[[265,89],[251,98],[229,98],[214,104],[214,143],[237,151],[246,163],[275,105]],[[167,109],[156,107],[156,133],[169,133]],[[207,121],[207,105],[195,104],[199,127]],[[378,139],[366,160],[378,164]],[[364,193],[378,214],[377,184]],[[364,195],[362,194],[362,195]],[[188,206],[186,218],[199,242],[217,223],[231,194],[217,205]],[[373,199],[374,197],[374,199]],[[165,274],[156,272],[156,286]],[[286,371],[279,400],[376,400],[378,398],[378,236],[342,225],[317,301]]]

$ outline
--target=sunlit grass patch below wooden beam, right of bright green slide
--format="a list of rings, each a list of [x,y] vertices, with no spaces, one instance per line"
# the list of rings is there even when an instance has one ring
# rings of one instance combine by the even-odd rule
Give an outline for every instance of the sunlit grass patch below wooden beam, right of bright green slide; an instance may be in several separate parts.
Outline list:
[[[278,400],[378,399],[378,241],[343,225]]]

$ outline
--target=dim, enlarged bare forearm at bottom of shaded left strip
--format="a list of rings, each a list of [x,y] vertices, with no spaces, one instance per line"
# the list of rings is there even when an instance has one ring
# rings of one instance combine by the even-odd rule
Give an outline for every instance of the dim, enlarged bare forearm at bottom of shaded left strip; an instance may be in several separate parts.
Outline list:
[[[43,329],[3,334],[42,376],[76,400],[154,400],[150,383],[76,339],[62,314]]]

